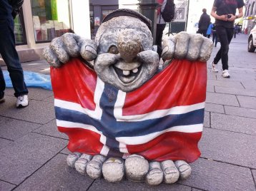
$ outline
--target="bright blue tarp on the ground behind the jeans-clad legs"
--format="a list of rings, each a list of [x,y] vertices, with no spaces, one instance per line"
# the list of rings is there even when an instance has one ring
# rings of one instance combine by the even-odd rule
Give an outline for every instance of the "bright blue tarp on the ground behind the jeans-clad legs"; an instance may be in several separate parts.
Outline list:
[[[6,87],[12,87],[11,78],[9,76],[8,71],[3,71],[4,80],[6,83]],[[35,73],[31,71],[24,71],[24,79],[27,87],[39,87],[44,88],[46,90],[52,90],[51,88],[51,78],[49,75]]]

